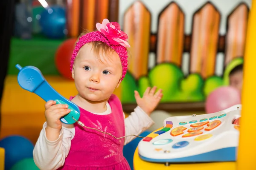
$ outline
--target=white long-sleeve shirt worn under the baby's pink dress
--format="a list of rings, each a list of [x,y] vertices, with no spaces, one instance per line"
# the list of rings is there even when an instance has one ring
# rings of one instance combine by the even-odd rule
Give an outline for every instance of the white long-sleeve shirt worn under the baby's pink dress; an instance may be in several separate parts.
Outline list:
[[[94,114],[110,114],[111,107],[107,103],[107,111],[104,113]],[[125,114],[124,114],[125,118]],[[127,118],[125,118],[125,136],[139,135],[153,125],[153,120],[139,107],[134,109]],[[74,138],[76,132],[74,125],[62,125],[60,135],[55,141],[49,141],[46,137],[45,127],[43,125],[38,141],[33,150],[35,164],[40,170],[56,170],[64,165],[65,159],[70,151],[71,140]],[[125,144],[131,142],[135,136],[125,137]]]

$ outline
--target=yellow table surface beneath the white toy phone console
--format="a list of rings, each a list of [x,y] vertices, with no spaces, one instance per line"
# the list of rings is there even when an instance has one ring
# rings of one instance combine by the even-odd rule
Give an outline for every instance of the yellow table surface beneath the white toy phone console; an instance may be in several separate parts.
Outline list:
[[[170,164],[151,163],[139,157],[138,148],[134,153],[134,170],[236,170],[236,162]]]

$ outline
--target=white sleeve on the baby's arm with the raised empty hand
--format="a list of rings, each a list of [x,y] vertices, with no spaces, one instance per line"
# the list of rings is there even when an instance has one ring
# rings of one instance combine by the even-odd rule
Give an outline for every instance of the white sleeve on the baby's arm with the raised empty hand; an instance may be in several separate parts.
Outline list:
[[[124,113],[125,116],[125,113]],[[127,135],[140,135],[140,133],[147,130],[154,125],[154,121],[145,113],[142,108],[137,106],[134,112],[125,118],[125,136]],[[125,144],[131,142],[136,136],[125,137]]]

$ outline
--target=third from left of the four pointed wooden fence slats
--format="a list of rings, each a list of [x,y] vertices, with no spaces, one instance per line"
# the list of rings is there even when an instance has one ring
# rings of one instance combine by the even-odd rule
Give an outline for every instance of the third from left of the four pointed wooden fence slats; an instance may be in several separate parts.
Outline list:
[[[206,78],[215,72],[220,14],[211,3],[207,3],[193,19],[190,72]]]

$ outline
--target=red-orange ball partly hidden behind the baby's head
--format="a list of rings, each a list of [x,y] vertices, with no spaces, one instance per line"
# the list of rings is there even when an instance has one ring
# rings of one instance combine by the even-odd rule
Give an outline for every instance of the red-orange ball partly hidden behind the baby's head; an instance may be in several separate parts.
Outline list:
[[[73,79],[71,77],[70,71],[70,59],[72,57],[75,45],[76,38],[70,38],[65,40],[56,51],[55,54],[55,65],[58,72],[65,78]]]

